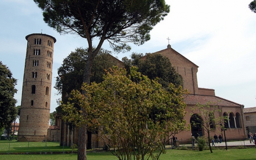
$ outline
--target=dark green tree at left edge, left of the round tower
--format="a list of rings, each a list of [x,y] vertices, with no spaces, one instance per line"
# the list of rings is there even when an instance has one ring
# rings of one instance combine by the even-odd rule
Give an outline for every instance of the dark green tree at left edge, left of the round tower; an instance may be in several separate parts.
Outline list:
[[[12,72],[0,61],[0,128],[11,128],[12,122],[16,119],[15,85],[17,79],[12,77]]]

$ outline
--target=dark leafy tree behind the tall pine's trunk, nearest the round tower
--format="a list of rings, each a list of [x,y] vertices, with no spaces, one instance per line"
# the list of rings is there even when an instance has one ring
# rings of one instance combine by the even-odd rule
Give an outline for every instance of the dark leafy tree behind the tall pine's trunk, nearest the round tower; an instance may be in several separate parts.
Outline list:
[[[102,77],[106,74],[105,69],[117,65],[116,61],[110,55],[111,51],[101,49],[98,55],[94,58],[91,82],[100,83],[103,81]],[[61,67],[58,69],[59,76],[56,79],[54,88],[62,94],[62,103],[67,103],[68,94],[71,93],[73,89],[81,89],[83,83],[84,66],[86,65],[86,60],[88,58],[88,48],[76,48],[74,52],[71,52],[64,60]],[[62,115],[62,110],[57,107],[56,111],[58,114]],[[74,125],[69,123],[72,128]],[[88,133],[87,148],[91,149],[91,132]]]

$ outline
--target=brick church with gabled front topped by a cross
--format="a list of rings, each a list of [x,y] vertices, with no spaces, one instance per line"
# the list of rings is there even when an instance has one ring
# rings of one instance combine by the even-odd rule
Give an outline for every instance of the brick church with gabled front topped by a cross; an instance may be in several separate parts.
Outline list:
[[[194,107],[197,103],[206,104],[207,102],[216,103],[218,108],[221,110],[220,115],[216,116],[228,116],[229,120],[226,123],[227,131],[226,138],[227,140],[242,140],[246,136],[246,129],[244,127],[244,119],[243,119],[243,108],[244,105],[239,103],[232,102],[225,98],[221,98],[215,95],[214,89],[208,88],[199,88],[197,84],[197,71],[198,66],[191,62],[189,59],[185,58],[180,53],[176,52],[170,45],[164,50],[161,50],[152,54],[160,54],[165,57],[168,57],[172,66],[175,67],[178,74],[183,77],[183,88],[188,89],[190,92],[189,95],[184,96],[184,101],[187,104],[184,119],[187,121],[187,124],[191,123],[192,111],[190,107]],[[145,56],[142,59],[145,59]],[[118,61],[119,66],[121,66],[121,61]],[[209,76],[209,75],[208,75]],[[55,132],[55,134],[59,134],[60,136],[60,144],[71,146],[72,144],[76,144],[78,142],[78,129],[74,129],[73,131],[69,130],[69,126],[65,122],[61,120],[61,117],[56,117],[56,125],[59,127],[55,127],[55,129],[59,129],[59,132]],[[192,126],[192,125],[191,125]],[[49,129],[48,129],[49,133]],[[214,136],[214,134],[222,135],[224,138],[223,132],[220,127],[216,127],[216,129],[210,133],[210,136]],[[190,143],[190,138],[197,135],[205,135],[207,133],[204,132],[200,127],[191,127],[190,131],[182,131],[176,134],[175,136],[182,140],[183,143]],[[58,135],[48,135],[49,140],[52,140],[51,137],[56,137]],[[102,148],[104,144],[102,141],[99,141],[95,135],[90,137],[91,147],[92,148]],[[168,143],[168,142],[167,142]],[[169,142],[170,143],[170,142]]]

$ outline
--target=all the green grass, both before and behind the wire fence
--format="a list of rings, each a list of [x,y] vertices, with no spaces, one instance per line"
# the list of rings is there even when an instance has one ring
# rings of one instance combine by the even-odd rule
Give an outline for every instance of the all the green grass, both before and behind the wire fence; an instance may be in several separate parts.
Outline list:
[[[47,142],[47,147],[52,151],[62,151],[59,143]],[[9,141],[0,141],[0,153],[8,153]],[[27,152],[28,143],[16,141],[10,142],[10,153]],[[29,152],[40,152],[42,154],[9,154],[0,155],[0,160],[76,160],[76,154],[47,154],[45,155],[45,143],[30,142]],[[69,147],[64,147],[64,151],[71,151]],[[192,150],[167,150],[166,154],[162,154],[160,160],[256,160],[256,148],[249,149],[228,149],[228,150],[209,150],[192,151]],[[118,160],[110,152],[88,152],[88,160]]]

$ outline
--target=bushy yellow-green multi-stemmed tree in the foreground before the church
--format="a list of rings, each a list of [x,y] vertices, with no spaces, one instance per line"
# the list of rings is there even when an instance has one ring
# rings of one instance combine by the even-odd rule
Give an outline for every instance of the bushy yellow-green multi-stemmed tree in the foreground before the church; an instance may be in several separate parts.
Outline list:
[[[173,84],[170,88],[172,92],[166,91],[137,67],[131,67],[129,76],[113,67],[102,83],[84,84],[85,95],[72,91],[70,102],[62,104],[64,118],[78,127],[87,124],[119,160],[158,160],[164,153],[163,139],[186,129],[185,91]]]

